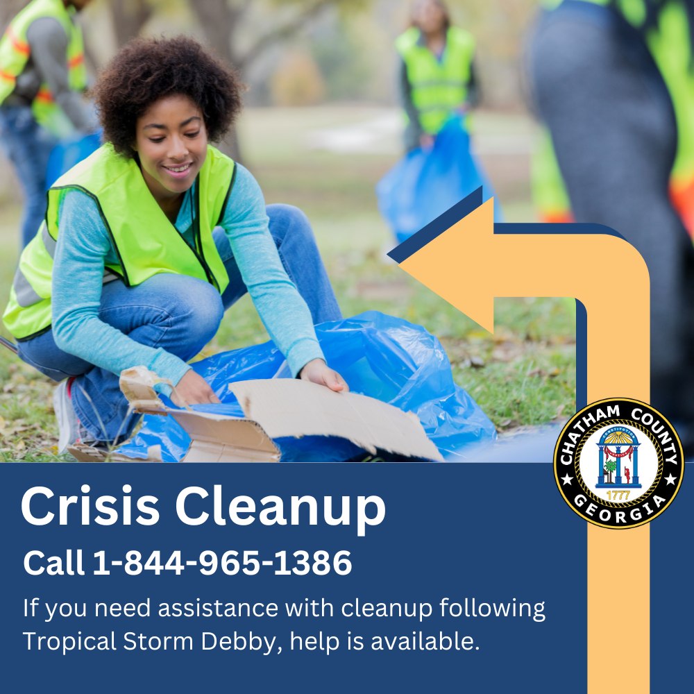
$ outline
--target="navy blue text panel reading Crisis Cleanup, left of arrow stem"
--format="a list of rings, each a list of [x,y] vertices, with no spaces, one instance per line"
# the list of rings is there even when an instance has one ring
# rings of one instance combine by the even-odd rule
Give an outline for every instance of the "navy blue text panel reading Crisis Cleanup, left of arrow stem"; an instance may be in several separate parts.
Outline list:
[[[586,690],[586,525],[549,465],[0,475],[5,691]]]

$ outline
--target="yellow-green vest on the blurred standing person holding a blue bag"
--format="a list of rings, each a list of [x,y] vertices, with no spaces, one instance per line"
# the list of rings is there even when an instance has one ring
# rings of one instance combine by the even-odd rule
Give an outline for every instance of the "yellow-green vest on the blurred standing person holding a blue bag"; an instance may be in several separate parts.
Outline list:
[[[412,87],[412,103],[425,133],[436,135],[452,110],[464,103],[475,55],[472,35],[457,26],[448,28],[441,61],[420,41],[421,31],[411,27],[396,40]]]

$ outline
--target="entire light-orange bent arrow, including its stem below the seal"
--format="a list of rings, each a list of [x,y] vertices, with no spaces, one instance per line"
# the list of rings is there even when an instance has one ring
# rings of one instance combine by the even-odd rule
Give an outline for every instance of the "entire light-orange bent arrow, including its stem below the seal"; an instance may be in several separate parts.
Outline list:
[[[477,199],[481,203],[481,194]],[[636,249],[597,225],[503,224],[497,230],[510,232],[495,233],[493,201],[480,203],[439,232],[437,223],[446,226],[442,215],[418,232],[422,240],[415,235],[391,254],[403,270],[490,332],[495,297],[577,298],[588,316],[587,402],[617,397],[648,402],[650,282]],[[590,232],[582,233],[586,228]],[[604,340],[615,331],[625,336],[617,346]],[[619,532],[586,525],[588,691],[612,694],[611,663],[629,663],[619,668],[618,688],[645,694],[650,677],[648,525]],[[619,610],[618,619],[610,586],[618,586],[620,601],[629,605]]]

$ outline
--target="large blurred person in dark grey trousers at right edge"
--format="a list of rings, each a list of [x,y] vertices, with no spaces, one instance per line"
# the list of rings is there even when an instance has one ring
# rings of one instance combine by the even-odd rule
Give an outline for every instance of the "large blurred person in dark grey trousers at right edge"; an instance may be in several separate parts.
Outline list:
[[[694,450],[694,1],[545,0],[530,78],[577,222],[616,229],[650,272],[651,402]],[[620,267],[610,277],[620,282]],[[631,307],[616,307],[629,349]]]

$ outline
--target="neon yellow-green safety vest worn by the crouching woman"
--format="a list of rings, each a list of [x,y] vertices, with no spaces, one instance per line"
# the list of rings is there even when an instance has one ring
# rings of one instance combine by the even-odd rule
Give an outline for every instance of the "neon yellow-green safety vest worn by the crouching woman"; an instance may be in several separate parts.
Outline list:
[[[58,240],[60,203],[78,189],[96,201],[115,246],[119,264],[107,266],[128,287],[159,273],[210,282],[221,294],[229,283],[212,238],[221,221],[234,177],[234,162],[208,146],[194,188],[195,248],[167,219],[133,159],[117,154],[110,143],[61,176],[49,190],[46,221],[24,248],[3,315],[17,339],[28,339],[51,325],[53,255]]]

